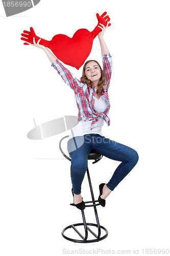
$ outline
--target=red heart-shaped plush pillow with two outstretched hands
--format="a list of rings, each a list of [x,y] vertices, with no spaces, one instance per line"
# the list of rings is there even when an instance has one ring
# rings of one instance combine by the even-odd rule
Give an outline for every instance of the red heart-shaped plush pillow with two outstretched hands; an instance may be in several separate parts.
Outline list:
[[[98,13],[96,14],[98,25],[101,23],[106,26],[107,22],[110,21],[109,16],[106,16],[106,14],[107,12],[104,12],[101,16]],[[79,29],[72,38],[63,34],[55,35],[51,41],[41,38],[40,45],[51,49],[55,56],[65,64],[79,69],[91,52],[93,39],[101,31],[98,25],[92,32],[89,32],[87,29]],[[35,37],[36,42],[40,39],[40,37],[36,36],[33,28],[30,28],[30,31],[25,30],[23,33],[21,35],[25,38],[21,37],[21,40],[31,44],[33,44],[33,37]],[[28,45],[27,42],[24,45]]]

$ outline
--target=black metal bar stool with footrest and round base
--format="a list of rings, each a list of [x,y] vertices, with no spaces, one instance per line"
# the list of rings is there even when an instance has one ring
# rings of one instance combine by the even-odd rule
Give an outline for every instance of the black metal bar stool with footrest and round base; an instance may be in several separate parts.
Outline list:
[[[67,157],[64,152],[62,151],[61,149],[61,141],[63,139],[65,139],[66,137],[68,136],[65,136],[63,137],[61,140],[60,140],[60,143],[59,143],[59,147],[60,147],[60,151],[61,153],[63,154],[63,156],[65,158],[67,158],[69,161],[71,161],[71,159],[69,157]],[[93,164],[98,162],[99,160],[102,159],[102,155],[99,154],[99,153],[96,153],[94,150],[91,150],[89,155],[88,155],[88,160],[95,160],[94,162],[92,162]],[[77,242],[77,243],[93,243],[93,242],[99,242],[105,238],[107,238],[108,236],[108,231],[105,227],[101,226],[100,223],[99,223],[99,217],[98,217],[98,212],[97,212],[97,209],[96,209],[96,206],[100,205],[98,202],[98,200],[94,200],[94,195],[93,195],[93,190],[92,190],[92,185],[91,185],[91,180],[90,180],[90,175],[89,175],[89,170],[88,170],[88,166],[87,166],[87,177],[88,177],[88,182],[89,182],[89,186],[90,186],[90,192],[91,192],[91,198],[92,198],[92,201],[87,201],[87,202],[84,202],[85,203],[85,207],[93,207],[94,208],[94,214],[95,214],[95,218],[96,218],[96,224],[94,223],[86,223],[86,220],[85,220],[85,215],[84,215],[84,210],[81,210],[82,212],[82,218],[83,218],[83,223],[76,223],[76,224],[72,224],[72,225],[69,225],[67,227],[65,227],[62,231],[62,236],[63,238],[71,241],[71,242]],[[92,203],[92,204],[90,204]],[[75,206],[74,204],[70,204],[72,206]],[[85,236],[83,236],[80,231],[76,228],[76,226],[84,226],[84,229],[85,229]],[[89,226],[94,226],[97,228],[97,232],[98,234],[95,234]],[[68,228],[72,228],[74,229],[78,234],[79,236],[82,238],[82,240],[77,240],[77,239],[72,239],[72,238],[68,238],[65,236],[64,232],[65,230],[67,230]],[[101,229],[103,229],[105,231],[105,235],[103,237],[101,237]],[[90,233],[93,234],[93,236],[95,237],[95,239],[91,239],[91,240],[87,240],[88,238],[88,231]]]

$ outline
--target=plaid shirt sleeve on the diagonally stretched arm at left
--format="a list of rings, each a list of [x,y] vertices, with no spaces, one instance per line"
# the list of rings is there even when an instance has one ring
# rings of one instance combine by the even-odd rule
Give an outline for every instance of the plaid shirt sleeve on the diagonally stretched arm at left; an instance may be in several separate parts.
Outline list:
[[[57,70],[58,74],[61,75],[67,86],[74,90],[75,94],[79,93],[79,89],[80,87],[82,88],[83,83],[76,77],[73,77],[69,70],[62,65],[59,59],[56,59],[56,61],[52,63],[52,67]]]

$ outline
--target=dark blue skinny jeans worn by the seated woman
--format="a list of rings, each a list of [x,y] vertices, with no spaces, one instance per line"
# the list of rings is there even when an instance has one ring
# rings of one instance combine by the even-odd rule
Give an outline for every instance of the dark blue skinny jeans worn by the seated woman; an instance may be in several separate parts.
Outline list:
[[[138,154],[132,148],[99,134],[86,134],[71,138],[67,142],[67,150],[71,157],[71,182],[76,195],[81,193],[81,184],[87,169],[88,154],[93,148],[95,152],[110,159],[120,161],[110,181],[106,184],[113,190],[133,169],[138,161]],[[104,172],[111,166],[103,166]]]

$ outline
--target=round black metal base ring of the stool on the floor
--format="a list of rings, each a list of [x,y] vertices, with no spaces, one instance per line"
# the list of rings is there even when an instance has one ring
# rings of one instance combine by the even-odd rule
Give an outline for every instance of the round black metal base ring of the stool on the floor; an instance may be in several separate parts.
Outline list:
[[[95,227],[98,227],[97,224],[93,224],[93,223],[86,223],[86,227],[88,229],[88,231],[90,231],[94,237],[96,237],[96,239],[91,239],[91,240],[87,240],[86,237],[83,237],[82,234],[79,232],[79,230],[76,228],[76,226],[84,226],[84,223],[76,223],[76,224],[73,224],[73,225],[69,225],[67,227],[65,227],[62,231],[62,236],[63,238],[71,241],[71,242],[75,242],[75,243],[93,243],[93,242],[99,242],[105,238],[107,238],[108,236],[108,231],[105,227],[103,226],[100,226],[100,228],[104,229],[105,230],[105,235],[103,237],[98,237],[88,226],[95,226]],[[67,230],[68,228],[73,228],[78,234],[79,236],[82,238],[82,240],[77,240],[77,239],[72,239],[72,238],[68,238],[65,236],[64,232],[65,230]]]

